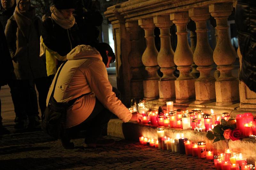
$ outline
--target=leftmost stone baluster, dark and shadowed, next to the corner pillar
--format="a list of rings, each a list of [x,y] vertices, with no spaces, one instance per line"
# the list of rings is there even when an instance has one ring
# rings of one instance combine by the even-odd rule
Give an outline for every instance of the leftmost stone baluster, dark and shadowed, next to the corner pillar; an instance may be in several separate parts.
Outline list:
[[[136,99],[143,98],[143,83],[142,83],[142,51],[140,42],[140,27],[138,22],[126,22],[126,30],[130,32],[131,51],[128,55],[128,61],[131,66],[131,96]]]

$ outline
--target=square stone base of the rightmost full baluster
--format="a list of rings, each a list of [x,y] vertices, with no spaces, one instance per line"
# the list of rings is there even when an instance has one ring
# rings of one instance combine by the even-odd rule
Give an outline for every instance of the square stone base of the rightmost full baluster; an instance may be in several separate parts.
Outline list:
[[[238,103],[238,80],[216,81],[216,106]]]

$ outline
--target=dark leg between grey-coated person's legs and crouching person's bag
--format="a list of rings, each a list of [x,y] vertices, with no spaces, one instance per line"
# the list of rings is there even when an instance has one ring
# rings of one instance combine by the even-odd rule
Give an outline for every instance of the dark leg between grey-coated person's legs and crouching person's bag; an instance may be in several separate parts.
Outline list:
[[[44,110],[46,108],[46,98],[49,91],[49,80],[47,77],[41,77],[34,80],[36,84],[36,89],[38,91],[38,102],[41,110],[41,114],[43,115]]]

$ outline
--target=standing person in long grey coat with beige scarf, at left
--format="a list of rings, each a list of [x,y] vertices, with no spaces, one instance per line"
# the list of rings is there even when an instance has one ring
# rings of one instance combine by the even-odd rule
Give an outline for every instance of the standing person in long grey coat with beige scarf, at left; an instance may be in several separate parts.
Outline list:
[[[29,130],[40,128],[36,88],[41,112],[45,110],[48,82],[44,62],[39,58],[41,20],[36,17],[30,0],[17,0],[13,16],[8,20],[5,35],[14,66],[12,77],[19,94],[21,113],[17,128],[24,128],[28,116]]]

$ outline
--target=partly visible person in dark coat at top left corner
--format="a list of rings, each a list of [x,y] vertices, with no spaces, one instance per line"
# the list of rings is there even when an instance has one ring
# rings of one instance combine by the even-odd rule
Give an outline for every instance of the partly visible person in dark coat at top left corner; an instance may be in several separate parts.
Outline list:
[[[0,22],[5,30],[7,20],[12,17],[16,3],[14,0],[1,0],[0,5]]]

